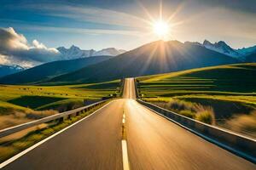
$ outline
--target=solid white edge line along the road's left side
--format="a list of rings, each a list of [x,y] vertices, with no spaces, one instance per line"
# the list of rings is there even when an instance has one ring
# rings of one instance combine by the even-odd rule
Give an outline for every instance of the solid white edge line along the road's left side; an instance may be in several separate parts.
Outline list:
[[[107,105],[111,104],[112,102],[113,102],[113,100],[110,101]],[[35,149],[36,147],[38,147],[39,145],[44,144],[44,142],[46,142],[46,141],[49,140],[49,139],[54,138],[56,135],[58,135],[58,134],[60,134],[60,133],[62,133],[62,132],[64,132],[64,131],[66,131],[68,128],[73,127],[73,126],[75,126],[76,124],[78,124],[79,122],[84,121],[84,119],[86,119],[86,118],[88,118],[88,117],[90,117],[90,116],[93,116],[97,111],[101,111],[101,110],[102,110],[104,107],[106,107],[107,105],[103,105],[103,106],[102,106],[101,108],[99,108],[98,110],[92,112],[89,116],[85,116],[84,118],[80,119],[78,122],[74,122],[73,124],[69,125],[68,127],[65,127],[65,128],[63,128],[62,130],[60,130],[60,131],[58,131],[58,132],[52,134],[51,136],[47,137],[46,139],[43,139],[43,140],[39,141],[37,144],[33,144],[31,147],[27,148],[26,150],[21,151],[19,154],[15,155],[15,156],[13,156],[13,157],[11,157],[11,158],[9,158],[7,161],[3,161],[3,162],[0,164],[0,168],[3,168],[3,167],[5,167],[5,166],[7,166],[9,163],[11,163],[12,161],[15,161],[15,160],[18,159],[20,156],[23,156],[23,155],[25,155],[27,152],[29,152],[29,151]]]

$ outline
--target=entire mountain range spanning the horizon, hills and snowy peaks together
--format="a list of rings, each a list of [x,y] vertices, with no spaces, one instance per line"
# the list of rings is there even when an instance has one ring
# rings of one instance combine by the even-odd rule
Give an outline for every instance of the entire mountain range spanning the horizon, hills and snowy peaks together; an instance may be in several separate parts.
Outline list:
[[[26,71],[0,78],[7,84],[72,84],[82,82],[103,82],[122,77],[182,71],[212,65],[226,65],[241,62],[256,62],[256,46],[234,49],[225,42],[150,42],[139,48],[117,56],[88,57],[97,53],[94,50],[81,50],[76,47],[62,48],[68,55],[82,60],[55,61],[38,65]],[[113,49],[113,48],[108,48]],[[69,52],[70,53],[69,53]],[[73,53],[71,53],[71,51]],[[86,53],[88,55],[85,55]],[[112,50],[107,50],[113,55]],[[116,50],[113,50],[116,51]],[[105,53],[105,52],[104,52]],[[64,52],[63,52],[64,54]],[[93,60],[96,59],[96,60]],[[93,62],[92,62],[93,60]]]

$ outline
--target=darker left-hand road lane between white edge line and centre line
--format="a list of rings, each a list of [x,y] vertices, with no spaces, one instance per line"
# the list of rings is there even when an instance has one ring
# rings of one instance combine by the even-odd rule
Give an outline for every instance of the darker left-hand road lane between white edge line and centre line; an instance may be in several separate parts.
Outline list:
[[[113,101],[3,169],[122,169],[124,105],[123,99]]]

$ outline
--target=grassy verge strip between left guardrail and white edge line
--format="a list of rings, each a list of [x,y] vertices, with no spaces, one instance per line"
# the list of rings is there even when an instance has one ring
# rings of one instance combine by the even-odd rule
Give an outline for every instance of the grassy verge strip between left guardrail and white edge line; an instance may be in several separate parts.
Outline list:
[[[104,102],[102,105],[107,105],[108,102]],[[1,139],[0,141],[0,162],[6,161],[11,156],[15,156],[22,150],[26,150],[33,144],[36,144],[61,129],[73,124],[73,122],[77,122],[85,116],[89,116],[91,113],[102,107],[102,105],[98,105],[90,111],[84,111],[79,116],[71,117],[71,119],[64,120],[63,122],[49,122],[45,127],[35,128],[19,139],[9,139],[8,137],[4,137],[7,140]]]

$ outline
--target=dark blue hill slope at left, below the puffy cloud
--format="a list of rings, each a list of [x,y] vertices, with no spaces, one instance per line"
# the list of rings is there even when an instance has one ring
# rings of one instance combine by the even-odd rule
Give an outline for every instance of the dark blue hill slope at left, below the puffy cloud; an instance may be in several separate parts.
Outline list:
[[[0,78],[0,83],[4,84],[28,84],[46,81],[55,76],[60,76],[70,71],[76,71],[84,66],[94,65],[96,63],[111,59],[111,56],[96,56],[83,59],[70,59],[49,62],[44,65],[38,65],[20,71],[18,73]]]

